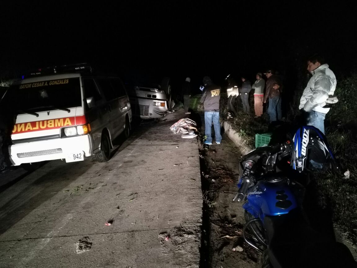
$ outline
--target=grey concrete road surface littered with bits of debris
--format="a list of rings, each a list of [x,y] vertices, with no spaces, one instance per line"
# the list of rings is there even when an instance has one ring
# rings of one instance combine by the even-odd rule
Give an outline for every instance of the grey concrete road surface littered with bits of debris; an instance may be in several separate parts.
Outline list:
[[[183,117],[141,125],[107,163],[1,174],[0,267],[198,267],[197,140],[169,129]]]

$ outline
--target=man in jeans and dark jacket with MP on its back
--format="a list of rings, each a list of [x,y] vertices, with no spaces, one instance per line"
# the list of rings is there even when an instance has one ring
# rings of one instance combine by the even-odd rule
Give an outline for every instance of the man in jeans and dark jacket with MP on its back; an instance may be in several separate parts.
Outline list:
[[[216,143],[220,144],[222,141],[221,124],[220,124],[220,98],[221,87],[212,83],[209,76],[203,78],[203,89],[201,96],[201,103],[205,108],[205,144],[212,144],[212,122],[215,128]]]

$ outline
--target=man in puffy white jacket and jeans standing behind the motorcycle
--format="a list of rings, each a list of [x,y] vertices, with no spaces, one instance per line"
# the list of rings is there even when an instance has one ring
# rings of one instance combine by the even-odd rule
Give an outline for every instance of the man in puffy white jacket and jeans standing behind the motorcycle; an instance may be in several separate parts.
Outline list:
[[[324,120],[330,108],[323,108],[323,106],[328,96],[335,92],[336,76],[319,55],[313,55],[308,59],[307,70],[312,77],[302,93],[299,109],[309,113],[307,125],[315,126],[325,134]]]

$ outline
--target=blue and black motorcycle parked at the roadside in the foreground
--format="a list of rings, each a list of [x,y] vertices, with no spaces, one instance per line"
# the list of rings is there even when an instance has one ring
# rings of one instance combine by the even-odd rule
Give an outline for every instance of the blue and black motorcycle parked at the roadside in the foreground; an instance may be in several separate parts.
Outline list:
[[[311,227],[302,206],[310,168],[335,167],[325,135],[313,126],[243,157],[233,201],[244,201],[243,238],[262,253],[262,267],[357,267],[344,244]]]

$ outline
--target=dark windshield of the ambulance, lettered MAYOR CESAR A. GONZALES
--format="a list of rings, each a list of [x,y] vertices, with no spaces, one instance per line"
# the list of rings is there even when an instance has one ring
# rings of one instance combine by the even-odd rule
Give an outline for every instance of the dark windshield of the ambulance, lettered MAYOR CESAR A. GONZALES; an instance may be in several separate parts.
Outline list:
[[[82,106],[79,78],[12,85],[5,105],[13,111],[39,112]]]

